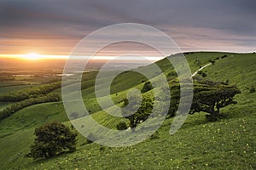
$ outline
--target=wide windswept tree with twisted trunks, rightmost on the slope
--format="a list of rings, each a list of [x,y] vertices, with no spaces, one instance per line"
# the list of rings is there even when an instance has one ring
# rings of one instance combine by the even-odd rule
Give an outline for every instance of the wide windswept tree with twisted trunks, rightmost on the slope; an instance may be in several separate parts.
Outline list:
[[[224,82],[195,81],[190,114],[204,111],[210,114],[207,116],[210,120],[215,121],[221,108],[237,103],[234,101],[236,94],[241,94],[241,91]]]

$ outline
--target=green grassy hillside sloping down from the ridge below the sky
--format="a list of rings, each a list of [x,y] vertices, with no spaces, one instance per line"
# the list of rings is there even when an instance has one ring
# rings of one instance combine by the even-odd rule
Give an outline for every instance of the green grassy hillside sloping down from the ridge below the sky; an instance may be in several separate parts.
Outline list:
[[[70,126],[61,102],[32,105],[0,122],[0,169],[255,169],[256,158],[256,54],[189,53],[191,71],[207,65],[209,59],[220,58],[204,72],[207,78],[229,82],[241,88],[236,96],[237,105],[230,105],[222,113],[226,118],[207,122],[205,114],[188,116],[183,127],[174,135],[169,134],[172,118],[158,129],[155,139],[146,139],[140,144],[108,148],[99,144],[84,144],[79,136],[78,150],[49,160],[32,161],[24,158],[33,142],[35,127],[45,122],[59,121]],[[162,59],[156,63],[168,72],[172,65]],[[145,68],[144,68],[145,69]],[[101,111],[94,93],[94,76],[82,83],[84,104],[93,117],[103,126],[116,128],[121,119]],[[129,88],[143,87],[143,76],[134,71],[116,77],[112,84],[112,99],[115,103],[125,98]],[[55,92],[61,93],[61,89]],[[111,109],[111,108],[110,108]]]

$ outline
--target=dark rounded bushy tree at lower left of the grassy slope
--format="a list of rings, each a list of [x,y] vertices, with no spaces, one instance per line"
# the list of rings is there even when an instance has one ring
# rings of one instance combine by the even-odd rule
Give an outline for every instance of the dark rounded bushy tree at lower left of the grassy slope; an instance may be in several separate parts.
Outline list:
[[[60,122],[51,122],[38,127],[34,134],[37,137],[31,146],[30,153],[26,155],[27,157],[49,158],[66,150],[76,150],[77,133]]]

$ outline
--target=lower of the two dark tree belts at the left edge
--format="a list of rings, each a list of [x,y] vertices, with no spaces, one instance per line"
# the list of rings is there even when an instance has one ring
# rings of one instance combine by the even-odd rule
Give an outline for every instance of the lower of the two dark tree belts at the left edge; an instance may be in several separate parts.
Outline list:
[[[47,95],[38,96],[37,98],[22,100],[20,102],[16,102],[15,104],[9,105],[8,107],[0,111],[0,120],[3,120],[8,116],[11,116],[16,111],[19,111],[27,106],[37,105],[37,104],[47,103],[47,102],[56,102],[60,100],[61,100],[61,97],[58,94],[47,94]]]

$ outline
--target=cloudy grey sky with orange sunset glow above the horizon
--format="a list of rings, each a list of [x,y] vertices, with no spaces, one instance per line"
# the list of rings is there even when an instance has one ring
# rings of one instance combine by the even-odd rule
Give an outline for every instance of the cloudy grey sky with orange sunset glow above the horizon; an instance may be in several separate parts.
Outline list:
[[[254,0],[0,0],[0,54],[68,55],[91,32],[119,23],[153,26],[182,51],[253,52],[255,7]]]

